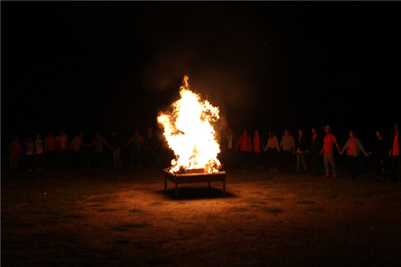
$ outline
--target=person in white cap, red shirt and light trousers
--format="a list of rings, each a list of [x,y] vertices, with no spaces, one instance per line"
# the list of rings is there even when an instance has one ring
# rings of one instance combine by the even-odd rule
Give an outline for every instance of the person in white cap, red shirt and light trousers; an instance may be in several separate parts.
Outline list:
[[[333,169],[333,178],[336,178],[337,168],[335,165],[333,145],[335,144],[339,154],[340,154],[340,147],[338,146],[337,139],[335,138],[335,136],[331,134],[331,127],[326,125],[324,127],[324,131],[326,135],[324,136],[323,139],[323,148],[319,152],[320,155],[323,154],[324,169],[326,171],[326,174],[323,177],[324,178],[329,177],[329,163],[330,163],[331,168]]]

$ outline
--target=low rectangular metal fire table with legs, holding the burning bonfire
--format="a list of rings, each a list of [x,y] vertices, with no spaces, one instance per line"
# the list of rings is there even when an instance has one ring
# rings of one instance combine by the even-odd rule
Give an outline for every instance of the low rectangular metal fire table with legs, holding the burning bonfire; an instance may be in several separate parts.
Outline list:
[[[226,196],[226,172],[219,171],[213,173],[171,173],[164,169],[164,191],[167,191],[167,180],[175,184],[175,198],[178,198],[178,184],[179,183],[200,183],[208,182],[209,189],[211,182],[223,182],[223,196]]]

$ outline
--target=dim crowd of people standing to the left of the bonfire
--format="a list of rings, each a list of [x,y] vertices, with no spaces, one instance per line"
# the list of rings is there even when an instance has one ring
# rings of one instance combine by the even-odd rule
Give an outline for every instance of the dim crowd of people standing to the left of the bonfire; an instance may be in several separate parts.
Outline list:
[[[122,165],[121,150],[125,148],[130,149],[131,152],[129,167],[133,165],[165,165],[167,160],[172,158],[166,142],[163,142],[162,138],[158,138],[151,127],[147,128],[144,137],[135,131],[127,142],[123,142],[116,131],[111,131],[111,138],[108,141],[99,132],[96,132],[92,142],[85,143],[84,135],[84,132],[80,132],[70,142],[63,130],[60,130],[57,136],[53,136],[52,131],[49,132],[44,140],[38,133],[35,140],[32,140],[32,137],[27,138],[24,149],[19,137],[16,136],[8,146],[10,171],[18,170],[18,162],[23,150],[28,172],[33,172],[35,169],[41,171],[44,165],[48,169],[108,165],[110,154],[112,154],[114,167],[118,168]],[[129,145],[131,148],[128,148]],[[92,152],[89,154],[83,152],[86,147],[93,147]]]

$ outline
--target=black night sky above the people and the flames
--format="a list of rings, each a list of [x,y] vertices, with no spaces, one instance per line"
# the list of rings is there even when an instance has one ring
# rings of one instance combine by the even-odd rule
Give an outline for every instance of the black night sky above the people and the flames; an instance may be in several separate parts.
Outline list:
[[[15,135],[60,128],[144,133],[183,75],[238,133],[391,133],[400,12],[380,1],[2,1],[2,152]]]

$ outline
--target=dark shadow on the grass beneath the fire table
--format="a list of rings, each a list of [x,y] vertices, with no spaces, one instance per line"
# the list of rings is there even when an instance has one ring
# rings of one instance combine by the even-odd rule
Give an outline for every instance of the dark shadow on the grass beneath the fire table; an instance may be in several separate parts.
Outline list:
[[[154,191],[154,193],[160,193],[160,191]],[[163,195],[168,199],[175,200],[175,189],[167,189],[167,191],[162,191]],[[223,196],[223,190],[217,188],[208,187],[179,187],[178,186],[178,199],[177,200],[188,200],[188,199],[211,199],[211,198],[227,198],[236,197],[235,194],[228,193],[226,191],[226,196]]]

